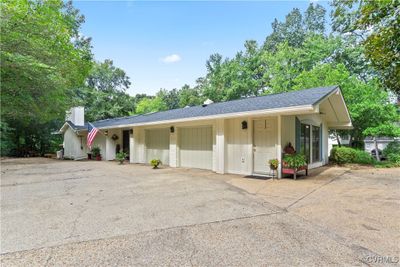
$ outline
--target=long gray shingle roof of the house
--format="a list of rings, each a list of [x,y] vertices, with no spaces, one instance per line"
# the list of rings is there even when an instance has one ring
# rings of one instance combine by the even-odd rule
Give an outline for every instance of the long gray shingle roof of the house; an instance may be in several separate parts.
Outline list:
[[[194,106],[150,114],[100,120],[92,122],[92,124],[97,128],[111,128],[137,123],[162,122],[167,120],[199,118],[220,114],[313,105],[318,103],[325,96],[329,95],[336,88],[338,88],[338,86],[318,87],[287,93],[249,97],[227,102],[214,103],[205,107]],[[86,124],[85,126],[79,127],[86,127],[87,129]]]

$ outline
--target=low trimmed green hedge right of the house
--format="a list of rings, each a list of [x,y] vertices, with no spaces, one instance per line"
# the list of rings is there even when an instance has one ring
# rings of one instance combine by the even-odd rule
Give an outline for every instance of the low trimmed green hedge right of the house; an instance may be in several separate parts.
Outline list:
[[[331,150],[330,160],[337,164],[358,163],[373,164],[372,156],[363,151],[350,147],[334,147]]]

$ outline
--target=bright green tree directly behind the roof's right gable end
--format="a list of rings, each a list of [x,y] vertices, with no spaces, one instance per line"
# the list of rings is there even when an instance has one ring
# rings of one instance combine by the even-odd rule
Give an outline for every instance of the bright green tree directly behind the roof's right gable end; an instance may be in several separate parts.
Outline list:
[[[294,88],[339,85],[343,91],[354,129],[350,131],[354,141],[362,143],[371,129],[382,125],[394,125],[399,116],[396,107],[389,103],[377,80],[364,82],[346,69],[343,64],[322,64],[302,72],[294,80]],[[380,132],[384,135],[384,132]]]

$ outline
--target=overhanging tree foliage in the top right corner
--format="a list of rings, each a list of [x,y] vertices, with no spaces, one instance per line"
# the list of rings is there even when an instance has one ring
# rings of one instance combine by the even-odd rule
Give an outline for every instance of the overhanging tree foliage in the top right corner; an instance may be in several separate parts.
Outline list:
[[[399,1],[334,0],[332,5],[334,29],[361,36],[385,86],[400,93]]]

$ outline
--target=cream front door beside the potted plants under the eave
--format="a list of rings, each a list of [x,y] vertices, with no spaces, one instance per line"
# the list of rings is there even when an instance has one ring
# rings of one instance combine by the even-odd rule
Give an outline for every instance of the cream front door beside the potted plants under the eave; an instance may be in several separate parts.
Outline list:
[[[253,172],[269,174],[268,161],[277,158],[276,143],[278,141],[277,121],[275,117],[254,120],[253,123]]]

